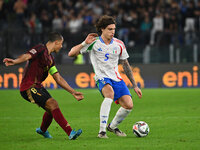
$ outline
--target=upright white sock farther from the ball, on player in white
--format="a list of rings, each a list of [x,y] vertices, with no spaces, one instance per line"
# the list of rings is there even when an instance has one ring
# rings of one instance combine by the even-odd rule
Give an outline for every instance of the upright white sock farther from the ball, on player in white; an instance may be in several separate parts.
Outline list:
[[[106,132],[106,125],[110,113],[110,108],[113,100],[111,98],[104,98],[100,108],[100,130]]]

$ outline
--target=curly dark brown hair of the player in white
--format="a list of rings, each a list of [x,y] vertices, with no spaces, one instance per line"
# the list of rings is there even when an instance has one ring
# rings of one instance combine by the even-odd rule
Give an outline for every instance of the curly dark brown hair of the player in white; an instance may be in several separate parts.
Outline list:
[[[102,34],[101,29],[105,29],[110,24],[116,24],[115,19],[108,15],[102,16],[95,25],[97,32]]]

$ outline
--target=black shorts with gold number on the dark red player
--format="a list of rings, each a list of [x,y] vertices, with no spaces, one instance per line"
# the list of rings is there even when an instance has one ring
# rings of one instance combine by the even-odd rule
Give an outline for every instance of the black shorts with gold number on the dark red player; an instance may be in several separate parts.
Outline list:
[[[45,88],[35,88],[32,87],[26,91],[21,91],[21,96],[31,102],[36,103],[42,108],[45,108],[46,101],[51,98],[51,95]]]

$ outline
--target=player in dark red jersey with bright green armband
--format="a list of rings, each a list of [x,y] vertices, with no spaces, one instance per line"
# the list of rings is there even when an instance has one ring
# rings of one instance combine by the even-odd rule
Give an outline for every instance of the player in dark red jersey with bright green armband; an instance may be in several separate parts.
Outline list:
[[[67,133],[69,139],[74,140],[80,136],[82,130],[72,130],[61,113],[57,101],[51,97],[41,84],[47,78],[48,73],[50,73],[57,84],[71,93],[78,101],[84,98],[81,92],[77,92],[69,86],[56,69],[54,58],[51,53],[59,52],[62,48],[62,44],[62,35],[57,32],[52,32],[49,34],[49,40],[46,45],[36,45],[17,59],[5,58],[3,62],[6,66],[12,66],[27,61],[20,85],[20,93],[24,99],[31,103],[36,103],[45,110],[42,124],[40,128],[36,129],[36,132],[43,135],[45,138],[52,138],[47,129],[54,118]]]

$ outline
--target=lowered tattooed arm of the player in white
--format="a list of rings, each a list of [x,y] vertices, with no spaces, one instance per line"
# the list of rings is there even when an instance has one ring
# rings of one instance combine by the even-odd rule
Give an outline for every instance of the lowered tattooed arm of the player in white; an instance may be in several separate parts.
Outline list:
[[[129,78],[129,80],[133,84],[133,88],[134,88],[135,92],[137,93],[137,95],[139,96],[139,98],[141,98],[142,97],[142,92],[138,88],[138,86],[137,86],[137,84],[135,82],[135,79],[133,77],[133,72],[131,70],[131,66],[130,66],[128,60],[124,59],[124,60],[121,60],[120,62],[122,64],[122,66],[123,66],[123,69],[124,69],[124,72],[125,72],[126,76]]]

